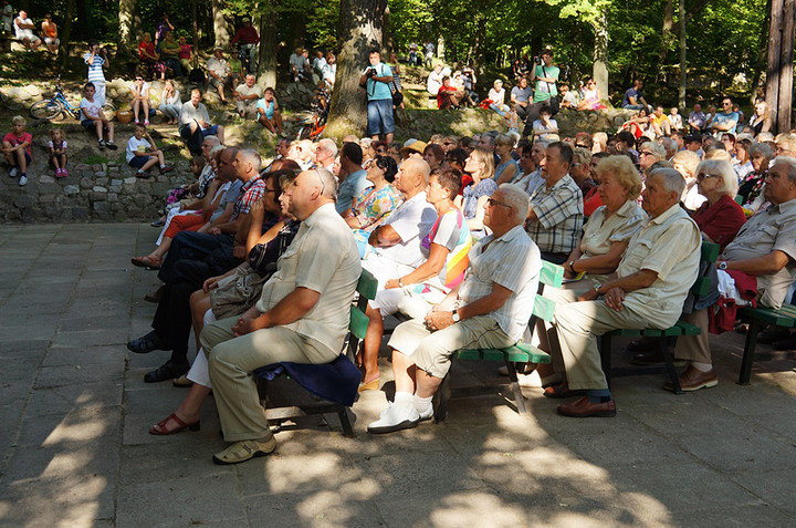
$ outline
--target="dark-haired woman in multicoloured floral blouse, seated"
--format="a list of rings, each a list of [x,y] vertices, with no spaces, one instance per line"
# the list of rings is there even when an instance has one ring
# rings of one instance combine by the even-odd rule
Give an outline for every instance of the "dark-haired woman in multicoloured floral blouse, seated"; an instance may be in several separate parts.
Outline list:
[[[354,197],[354,205],[345,220],[354,230],[359,257],[365,257],[370,232],[401,203],[400,193],[392,187],[397,173],[398,165],[395,159],[389,156],[376,156],[365,176],[373,187]]]

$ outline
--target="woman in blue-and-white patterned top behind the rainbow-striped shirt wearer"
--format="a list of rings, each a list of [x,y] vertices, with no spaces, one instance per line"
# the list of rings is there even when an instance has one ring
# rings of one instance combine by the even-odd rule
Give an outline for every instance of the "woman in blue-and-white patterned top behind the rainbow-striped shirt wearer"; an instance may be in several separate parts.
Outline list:
[[[494,156],[492,152],[478,147],[473,149],[464,162],[464,172],[470,175],[472,183],[457,196],[457,207],[464,213],[468,227],[473,237],[483,236],[483,216],[486,200],[498,189],[494,176]]]

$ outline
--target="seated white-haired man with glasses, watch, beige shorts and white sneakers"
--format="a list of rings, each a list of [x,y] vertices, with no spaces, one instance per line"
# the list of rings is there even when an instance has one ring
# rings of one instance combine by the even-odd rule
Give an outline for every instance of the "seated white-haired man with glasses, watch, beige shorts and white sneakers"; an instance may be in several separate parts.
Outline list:
[[[395,401],[368,425],[370,433],[391,433],[430,420],[431,400],[457,350],[502,349],[520,341],[542,269],[540,250],[523,229],[527,213],[525,191],[501,185],[486,201],[484,214],[492,235],[470,250],[464,280],[425,320],[412,319],[396,328],[389,341]]]

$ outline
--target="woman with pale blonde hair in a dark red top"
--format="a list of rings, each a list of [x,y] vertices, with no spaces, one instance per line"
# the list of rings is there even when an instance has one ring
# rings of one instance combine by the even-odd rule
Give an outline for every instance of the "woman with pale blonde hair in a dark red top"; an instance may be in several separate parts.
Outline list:
[[[743,208],[735,201],[737,178],[730,162],[709,159],[696,167],[696,188],[705,203],[691,218],[709,242],[724,247],[746,221]]]

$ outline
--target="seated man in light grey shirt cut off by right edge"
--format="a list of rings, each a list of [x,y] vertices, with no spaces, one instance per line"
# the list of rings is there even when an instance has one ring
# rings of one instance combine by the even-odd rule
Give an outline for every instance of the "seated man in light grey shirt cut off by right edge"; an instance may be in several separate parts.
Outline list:
[[[761,306],[782,307],[796,273],[796,158],[777,156],[768,169],[763,189],[771,204],[743,225],[732,242],[719,256],[719,282],[731,282],[735,298],[740,298],[735,278],[741,275],[756,279],[757,301]],[[727,271],[734,277],[725,280]],[[688,367],[680,375],[683,391],[698,391],[719,383],[713,370],[708,340],[708,310],[696,310],[683,320],[702,329],[700,335],[678,338],[674,358],[687,360]],[[787,342],[776,341],[775,348],[789,350]],[[667,385],[671,389],[671,385]]]

